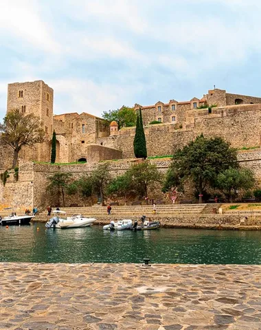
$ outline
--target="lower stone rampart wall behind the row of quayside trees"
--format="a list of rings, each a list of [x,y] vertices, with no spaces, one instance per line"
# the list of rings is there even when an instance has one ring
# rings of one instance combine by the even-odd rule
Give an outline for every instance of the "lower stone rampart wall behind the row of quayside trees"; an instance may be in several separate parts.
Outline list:
[[[253,149],[238,153],[238,161],[241,166],[250,168],[256,175],[261,184],[261,149]],[[84,174],[89,174],[95,168],[95,164],[71,164],[71,165],[51,165],[51,164],[33,164],[20,159],[19,180],[15,181],[14,172],[10,173],[10,177],[3,187],[0,184],[0,201],[1,208],[14,206],[18,210],[24,211],[25,208],[32,209],[33,206],[42,208],[47,207],[48,196],[46,187],[48,177],[56,172],[71,173],[74,179],[80,178]],[[117,162],[109,163],[109,171],[113,177],[122,175],[133,164],[141,162],[141,159],[121,159]],[[171,158],[166,159],[150,159],[161,173],[166,173],[170,165]],[[165,198],[163,195],[162,199]],[[67,205],[70,203],[84,204],[86,201],[79,197],[66,197]],[[93,201],[95,203],[96,201]],[[166,197],[166,202],[171,201]]]

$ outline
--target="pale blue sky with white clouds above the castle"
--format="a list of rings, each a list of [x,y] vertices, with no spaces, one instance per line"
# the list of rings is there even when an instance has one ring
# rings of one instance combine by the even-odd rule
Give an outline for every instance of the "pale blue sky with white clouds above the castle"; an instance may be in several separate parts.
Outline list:
[[[8,83],[44,80],[54,113],[260,96],[260,0],[1,0],[0,119]]]

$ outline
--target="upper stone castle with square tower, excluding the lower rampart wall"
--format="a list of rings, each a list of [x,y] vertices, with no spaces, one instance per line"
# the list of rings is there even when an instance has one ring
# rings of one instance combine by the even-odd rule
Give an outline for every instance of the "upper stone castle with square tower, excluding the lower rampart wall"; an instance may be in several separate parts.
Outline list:
[[[141,108],[148,156],[172,155],[196,135],[219,135],[232,146],[260,146],[261,98],[229,94],[225,90],[209,90],[203,98],[168,103],[157,102]],[[38,115],[45,129],[45,142],[24,148],[19,157],[49,162],[52,133],[56,131],[56,162],[131,158],[135,127],[118,131],[117,123],[89,113],[54,115],[54,90],[42,80],[8,85],[8,109]],[[149,124],[157,120],[161,124]],[[10,167],[12,155],[3,146],[0,167]]]

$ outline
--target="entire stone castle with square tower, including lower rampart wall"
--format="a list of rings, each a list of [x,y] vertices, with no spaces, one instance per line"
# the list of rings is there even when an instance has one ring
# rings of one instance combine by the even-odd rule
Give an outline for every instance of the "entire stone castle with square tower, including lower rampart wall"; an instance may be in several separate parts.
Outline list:
[[[203,133],[206,137],[221,136],[231,146],[244,149],[239,162],[251,168],[261,179],[261,98],[229,94],[225,90],[209,90],[203,98],[168,103],[157,102],[141,108],[148,156],[173,155],[178,148]],[[45,129],[45,142],[19,153],[19,180],[12,173],[5,187],[0,187],[0,203],[4,206],[32,208],[45,206],[47,177],[60,170],[79,177],[89,173],[101,160],[122,159],[111,162],[113,175],[124,173],[133,162],[135,127],[118,130],[117,123],[109,123],[89,113],[54,115],[54,91],[42,80],[8,85],[8,109],[38,115]],[[157,120],[159,124],[150,124]],[[84,161],[87,164],[67,166],[35,164],[49,162],[52,132],[56,131],[56,163]],[[1,143],[1,173],[12,164],[12,149]],[[129,159],[129,160],[128,160]],[[162,172],[170,160],[155,159]]]

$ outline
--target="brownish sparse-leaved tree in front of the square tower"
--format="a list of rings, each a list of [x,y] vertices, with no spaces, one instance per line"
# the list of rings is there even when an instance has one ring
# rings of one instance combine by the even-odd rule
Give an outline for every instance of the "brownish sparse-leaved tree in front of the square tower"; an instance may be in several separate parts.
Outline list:
[[[12,168],[16,166],[21,148],[43,142],[45,135],[40,120],[32,113],[28,115],[20,113],[19,109],[5,115],[3,124],[0,124],[0,130],[4,133],[3,141],[14,150]]]

